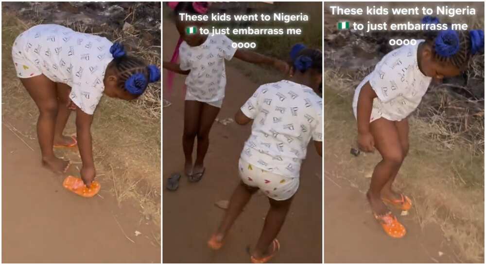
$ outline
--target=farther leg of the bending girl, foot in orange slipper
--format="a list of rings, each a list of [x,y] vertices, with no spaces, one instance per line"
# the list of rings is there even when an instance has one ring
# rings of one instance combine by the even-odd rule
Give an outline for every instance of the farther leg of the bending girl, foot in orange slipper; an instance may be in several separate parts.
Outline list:
[[[67,84],[56,83],[56,92],[58,99],[58,110],[56,127],[54,130],[54,144],[56,145],[69,145],[74,142],[70,137],[63,136],[64,128],[66,123],[68,123],[69,115],[71,110],[68,109],[68,98],[71,88]]]

